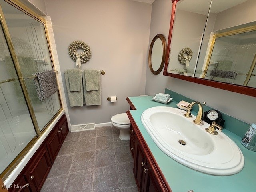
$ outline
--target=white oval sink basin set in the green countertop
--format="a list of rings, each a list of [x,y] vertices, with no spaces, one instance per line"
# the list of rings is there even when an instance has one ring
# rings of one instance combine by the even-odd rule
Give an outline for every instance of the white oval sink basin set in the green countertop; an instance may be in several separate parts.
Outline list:
[[[238,146],[224,133],[212,135],[196,125],[185,111],[171,107],[145,110],[141,121],[156,145],[168,156],[200,172],[232,175],[244,167],[244,156]],[[183,145],[183,141],[186,143]]]

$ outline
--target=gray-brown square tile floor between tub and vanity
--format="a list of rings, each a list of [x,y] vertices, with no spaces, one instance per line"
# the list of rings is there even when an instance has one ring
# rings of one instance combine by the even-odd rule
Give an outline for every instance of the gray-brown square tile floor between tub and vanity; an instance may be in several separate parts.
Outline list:
[[[129,141],[113,126],[68,133],[41,192],[138,192]]]

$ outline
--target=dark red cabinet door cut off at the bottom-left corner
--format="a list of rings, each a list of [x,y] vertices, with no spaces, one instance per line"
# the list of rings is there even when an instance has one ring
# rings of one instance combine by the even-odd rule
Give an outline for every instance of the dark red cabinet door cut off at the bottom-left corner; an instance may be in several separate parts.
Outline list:
[[[8,188],[9,192],[33,192],[29,182],[22,176]]]

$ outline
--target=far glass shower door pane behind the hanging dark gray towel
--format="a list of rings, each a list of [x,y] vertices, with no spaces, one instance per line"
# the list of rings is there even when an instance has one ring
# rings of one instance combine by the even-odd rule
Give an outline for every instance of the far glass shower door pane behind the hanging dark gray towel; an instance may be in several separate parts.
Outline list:
[[[35,72],[53,70],[45,26],[7,2],[0,2],[36,121],[42,131],[61,108],[58,92],[40,101],[33,81]],[[9,63],[10,58],[6,58],[6,62]]]

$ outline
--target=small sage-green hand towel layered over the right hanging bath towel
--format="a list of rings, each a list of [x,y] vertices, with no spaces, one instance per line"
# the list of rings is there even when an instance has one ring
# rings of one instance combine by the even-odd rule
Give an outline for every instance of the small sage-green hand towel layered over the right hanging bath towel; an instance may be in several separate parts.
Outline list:
[[[86,84],[87,91],[99,90],[98,70],[85,69],[84,76],[85,76],[85,84]]]

